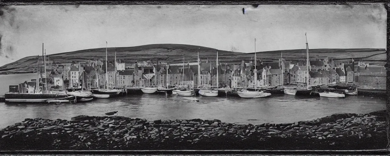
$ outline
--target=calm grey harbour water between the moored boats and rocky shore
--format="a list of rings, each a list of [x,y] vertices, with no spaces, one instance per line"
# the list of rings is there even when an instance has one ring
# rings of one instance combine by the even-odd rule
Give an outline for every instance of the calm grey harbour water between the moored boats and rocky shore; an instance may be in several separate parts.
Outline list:
[[[30,77],[29,77],[30,76]],[[8,91],[8,85],[34,78],[34,74],[0,75],[0,95]],[[31,78],[32,77],[32,78]],[[220,119],[222,122],[240,124],[285,123],[325,117],[337,112],[369,113],[383,110],[386,99],[347,96],[346,98],[297,97],[273,95],[257,99],[238,97],[180,97],[159,94],[141,94],[95,99],[77,104],[5,104],[0,103],[0,128],[21,122],[25,118],[67,119],[77,115],[117,115],[158,119]]]

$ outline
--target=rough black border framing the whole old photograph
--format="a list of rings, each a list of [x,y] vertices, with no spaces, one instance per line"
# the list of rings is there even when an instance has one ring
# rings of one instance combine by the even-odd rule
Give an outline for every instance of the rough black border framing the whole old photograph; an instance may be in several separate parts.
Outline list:
[[[385,6],[387,11],[387,42],[386,42],[386,57],[387,63],[385,68],[387,70],[387,80],[386,80],[386,90],[387,96],[390,97],[390,53],[387,51],[390,48],[390,1],[389,0],[277,0],[277,1],[268,1],[268,0],[109,0],[109,1],[97,1],[97,0],[1,0],[0,8],[6,7],[7,5],[252,5],[252,7],[257,7],[258,5],[348,5],[348,4],[374,4],[380,3]],[[244,8],[243,8],[244,11]],[[2,12],[0,12],[0,15]],[[1,36],[0,36],[1,40]],[[283,155],[292,155],[292,154],[318,154],[318,155],[328,155],[328,154],[356,154],[356,155],[382,155],[389,154],[390,151],[390,98],[387,98],[386,101],[386,129],[387,129],[387,139],[388,145],[387,149],[376,150],[376,151],[0,151],[0,154],[283,154]],[[1,149],[0,149],[1,150]]]

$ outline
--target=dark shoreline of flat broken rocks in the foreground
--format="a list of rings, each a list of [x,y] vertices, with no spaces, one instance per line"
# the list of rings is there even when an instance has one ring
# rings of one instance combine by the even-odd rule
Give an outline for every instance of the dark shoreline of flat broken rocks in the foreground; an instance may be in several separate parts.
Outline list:
[[[241,125],[80,115],[25,119],[0,129],[2,150],[369,150],[385,149],[386,112],[337,113],[312,121]]]

